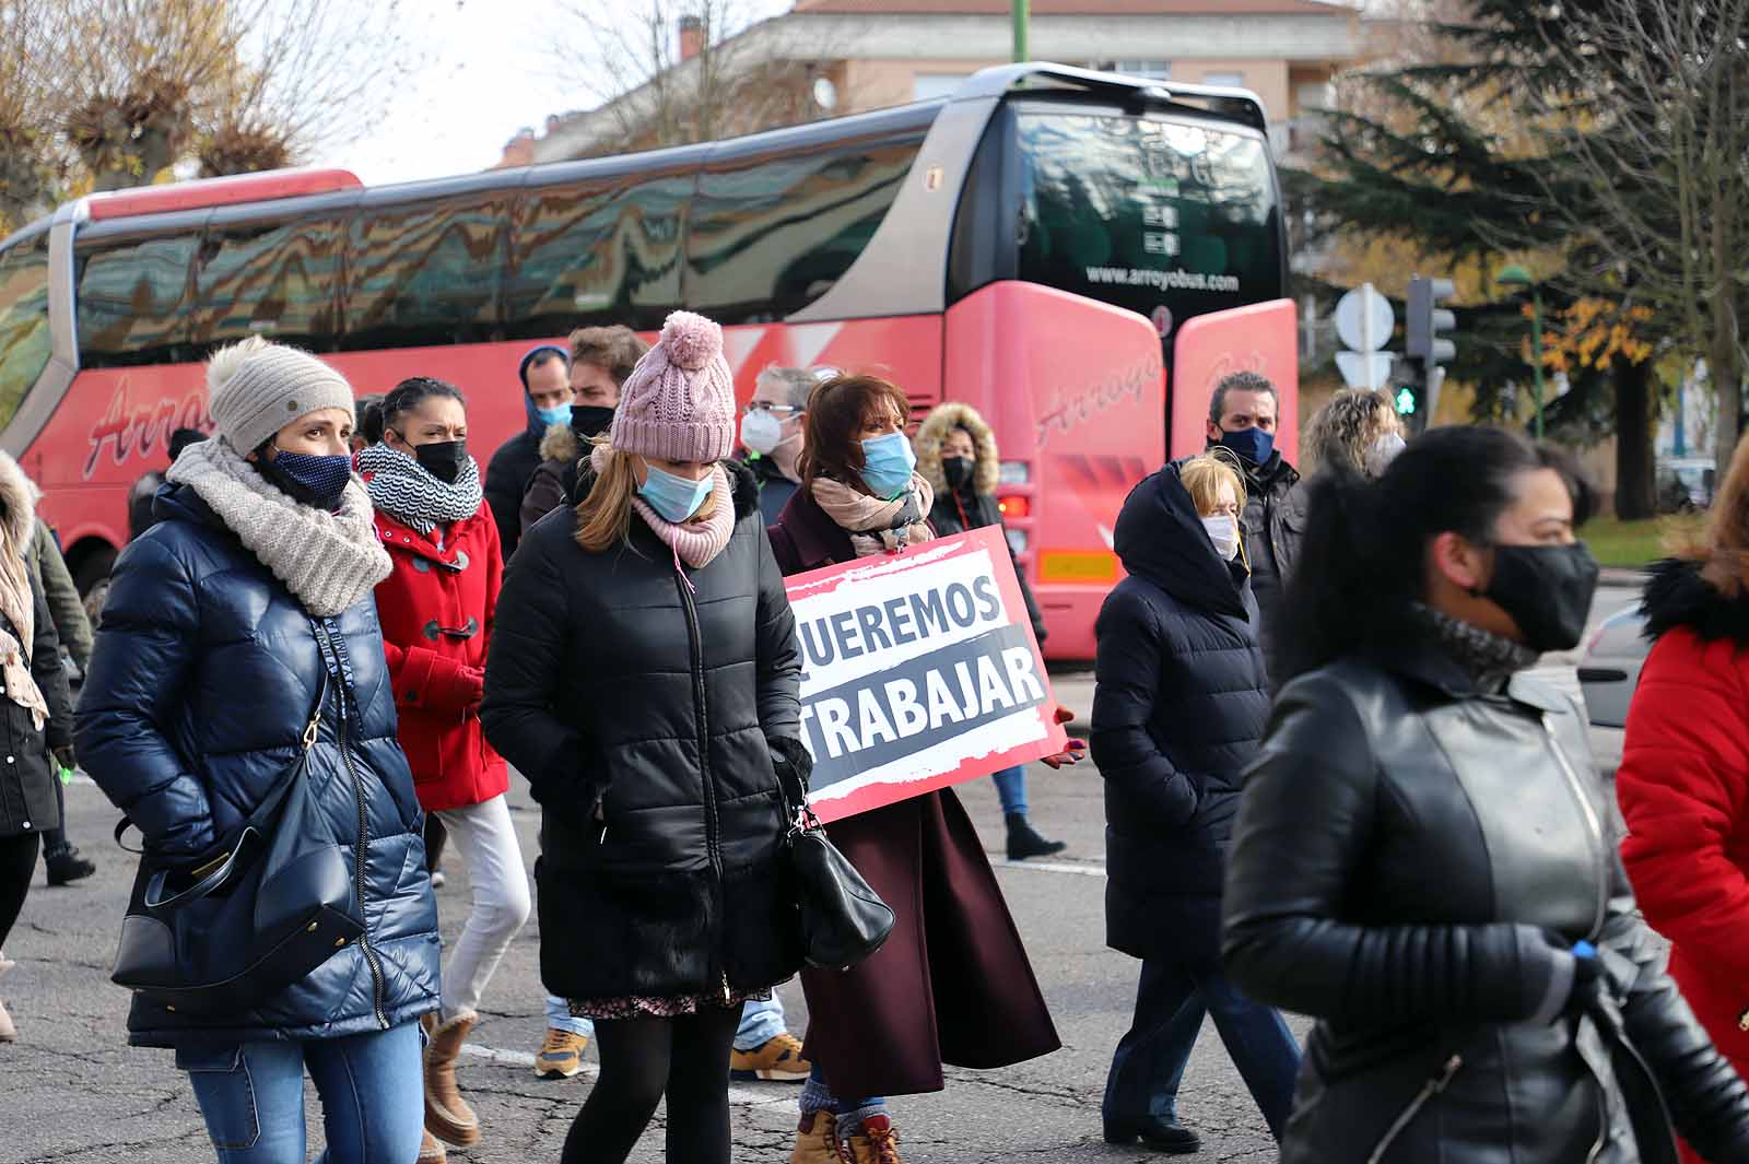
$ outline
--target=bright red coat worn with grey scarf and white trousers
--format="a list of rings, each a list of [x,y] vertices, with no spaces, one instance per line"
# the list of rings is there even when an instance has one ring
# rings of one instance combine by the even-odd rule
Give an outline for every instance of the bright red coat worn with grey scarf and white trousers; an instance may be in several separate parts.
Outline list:
[[[395,563],[376,584],[376,617],[420,806],[436,813],[504,795],[509,769],[479,727],[479,683],[504,582],[491,509],[481,503],[453,523],[441,549],[437,531],[423,535],[381,510],[376,535]]]

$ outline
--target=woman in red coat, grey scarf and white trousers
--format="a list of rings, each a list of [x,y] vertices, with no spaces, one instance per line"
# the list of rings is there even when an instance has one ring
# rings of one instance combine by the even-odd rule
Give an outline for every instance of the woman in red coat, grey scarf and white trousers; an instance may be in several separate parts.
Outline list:
[[[376,531],[395,572],[376,587],[383,647],[413,786],[460,846],[474,911],[442,970],[442,1010],[425,1049],[427,1143],[479,1141],[479,1119],[455,1084],[455,1059],[477,1021],[486,980],[528,921],[528,876],[504,793],[509,771],[479,727],[491,617],[504,575],[498,530],[467,454],[462,393],[418,376],[383,400],[383,442],[359,453]]]

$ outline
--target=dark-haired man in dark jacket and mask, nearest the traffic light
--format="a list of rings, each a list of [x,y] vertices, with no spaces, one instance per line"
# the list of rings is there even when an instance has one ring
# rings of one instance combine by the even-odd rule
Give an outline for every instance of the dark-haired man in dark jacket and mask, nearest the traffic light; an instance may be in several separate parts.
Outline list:
[[[1280,683],[1280,650],[1275,636],[1282,587],[1300,556],[1305,530],[1305,498],[1294,486],[1300,472],[1275,447],[1280,391],[1258,372],[1230,372],[1214,386],[1209,400],[1209,447],[1226,447],[1238,454],[1245,470],[1245,559],[1251,563],[1251,589],[1258,596],[1263,622],[1258,638],[1270,668],[1272,683]]]

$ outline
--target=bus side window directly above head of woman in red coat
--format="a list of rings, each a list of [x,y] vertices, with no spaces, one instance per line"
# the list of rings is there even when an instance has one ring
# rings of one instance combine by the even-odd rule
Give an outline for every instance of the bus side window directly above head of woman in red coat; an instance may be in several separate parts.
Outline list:
[[[502,337],[509,196],[360,206],[346,231],[341,348],[422,348]]]

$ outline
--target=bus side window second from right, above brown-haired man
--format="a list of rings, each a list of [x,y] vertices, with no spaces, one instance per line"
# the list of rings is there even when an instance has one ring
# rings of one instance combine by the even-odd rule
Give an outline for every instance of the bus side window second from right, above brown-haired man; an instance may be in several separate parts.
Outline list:
[[[584,178],[516,206],[504,299],[511,337],[624,323],[656,330],[680,306],[680,227],[693,175]]]

